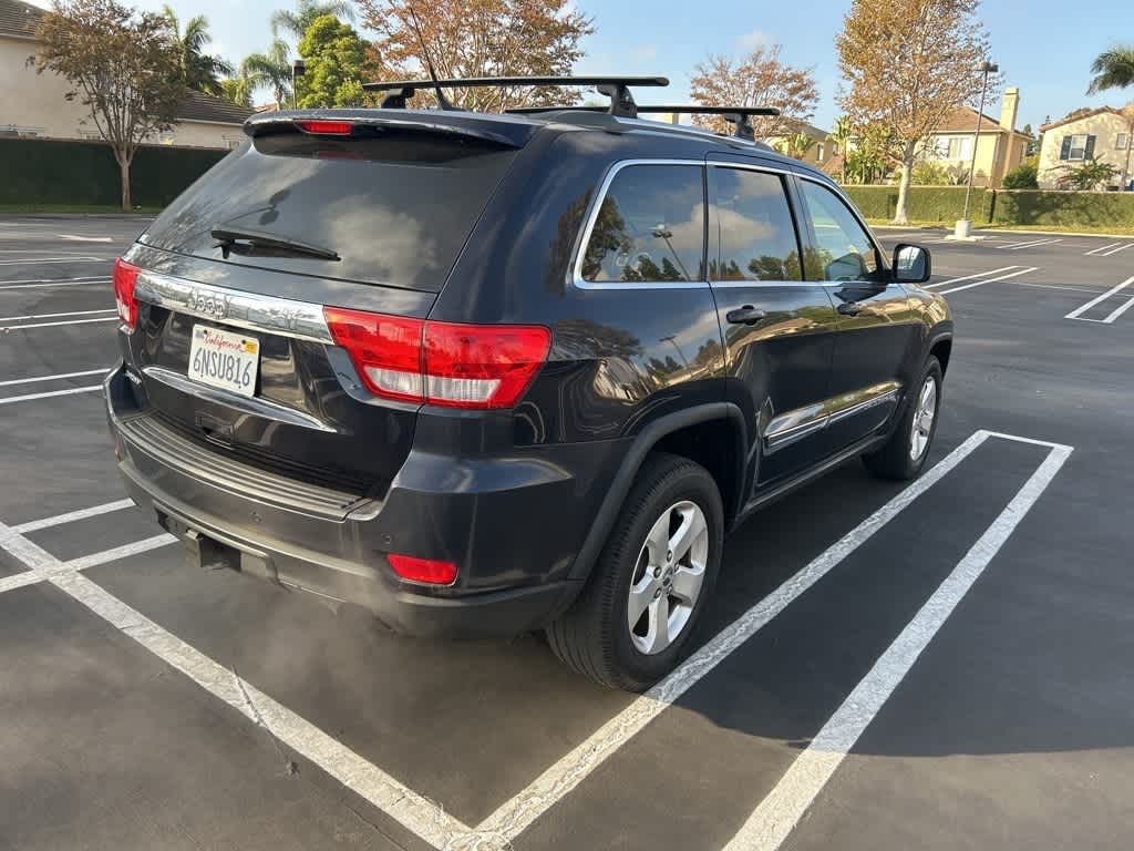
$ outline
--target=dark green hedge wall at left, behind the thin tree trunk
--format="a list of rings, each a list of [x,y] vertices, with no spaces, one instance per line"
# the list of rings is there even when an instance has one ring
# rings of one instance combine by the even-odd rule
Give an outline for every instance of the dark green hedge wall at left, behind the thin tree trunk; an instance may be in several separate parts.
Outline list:
[[[146,145],[134,154],[130,188],[138,207],[164,207],[227,151]],[[101,142],[0,138],[0,204],[121,202],[118,163]]]

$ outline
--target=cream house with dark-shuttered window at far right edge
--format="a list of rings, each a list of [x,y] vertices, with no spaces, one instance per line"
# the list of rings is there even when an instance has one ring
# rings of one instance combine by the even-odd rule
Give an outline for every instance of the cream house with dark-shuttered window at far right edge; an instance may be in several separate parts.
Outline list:
[[[1040,188],[1056,188],[1068,167],[1091,159],[1109,162],[1118,169],[1112,180],[1117,187],[1126,168],[1127,153],[1134,148],[1132,125],[1134,118],[1124,116],[1122,110],[1099,107],[1076,110],[1040,127],[1043,134],[1038,169]],[[1134,158],[1131,167],[1134,169]],[[1126,179],[1131,179],[1129,174]]]

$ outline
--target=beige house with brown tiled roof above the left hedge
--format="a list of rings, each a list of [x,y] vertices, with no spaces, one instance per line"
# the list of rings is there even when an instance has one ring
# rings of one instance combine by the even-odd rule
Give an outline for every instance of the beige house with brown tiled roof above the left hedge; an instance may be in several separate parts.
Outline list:
[[[90,110],[78,99],[66,99],[70,84],[50,71],[36,74],[27,64],[44,14],[20,0],[0,0],[0,136],[99,138]],[[187,90],[174,127],[147,142],[235,148],[251,115],[251,109]]]

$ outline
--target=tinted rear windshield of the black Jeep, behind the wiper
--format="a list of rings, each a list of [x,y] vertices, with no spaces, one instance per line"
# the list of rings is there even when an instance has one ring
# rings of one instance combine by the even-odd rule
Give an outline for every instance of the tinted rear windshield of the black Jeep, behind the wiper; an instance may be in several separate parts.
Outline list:
[[[191,186],[141,241],[242,266],[437,292],[515,154],[428,133],[261,136]],[[214,229],[259,241],[219,245]],[[273,241],[325,251],[315,256]]]

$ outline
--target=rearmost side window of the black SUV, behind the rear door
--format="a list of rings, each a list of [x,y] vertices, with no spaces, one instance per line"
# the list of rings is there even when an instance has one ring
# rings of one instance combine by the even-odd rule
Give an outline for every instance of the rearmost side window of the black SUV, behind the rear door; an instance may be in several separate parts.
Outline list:
[[[627,166],[610,182],[594,219],[583,280],[704,280],[704,231],[701,166]]]

